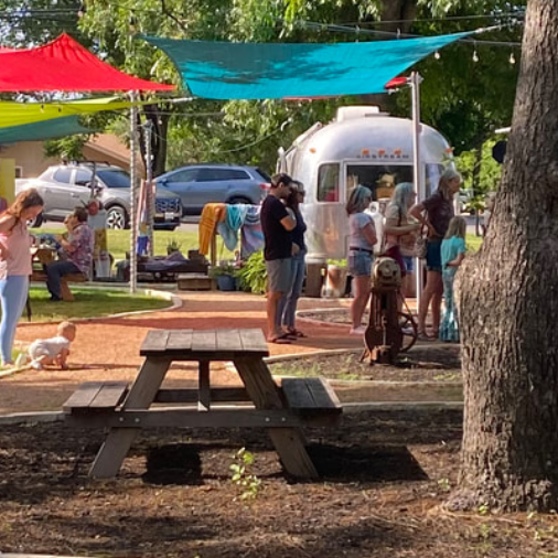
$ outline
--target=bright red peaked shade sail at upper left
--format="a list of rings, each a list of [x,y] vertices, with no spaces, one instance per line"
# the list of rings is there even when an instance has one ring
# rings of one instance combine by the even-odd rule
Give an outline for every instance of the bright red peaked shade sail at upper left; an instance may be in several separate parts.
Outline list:
[[[62,34],[30,50],[0,49],[0,92],[163,92],[158,84],[125,74]]]

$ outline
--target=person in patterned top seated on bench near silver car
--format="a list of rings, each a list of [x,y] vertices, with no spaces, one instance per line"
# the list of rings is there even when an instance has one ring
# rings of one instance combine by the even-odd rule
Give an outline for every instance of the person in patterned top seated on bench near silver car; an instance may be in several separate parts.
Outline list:
[[[87,210],[76,207],[69,217],[72,237],[64,239],[56,237],[67,254],[66,261],[53,261],[45,266],[46,288],[51,293],[51,301],[62,300],[61,279],[72,273],[83,273],[89,277],[93,262],[93,232],[87,225]]]

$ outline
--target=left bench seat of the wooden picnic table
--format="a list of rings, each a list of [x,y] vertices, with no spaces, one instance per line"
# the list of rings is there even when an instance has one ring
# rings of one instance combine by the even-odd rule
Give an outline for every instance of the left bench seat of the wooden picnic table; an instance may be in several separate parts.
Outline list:
[[[88,414],[115,410],[128,394],[128,382],[85,382],[74,391],[62,410]]]

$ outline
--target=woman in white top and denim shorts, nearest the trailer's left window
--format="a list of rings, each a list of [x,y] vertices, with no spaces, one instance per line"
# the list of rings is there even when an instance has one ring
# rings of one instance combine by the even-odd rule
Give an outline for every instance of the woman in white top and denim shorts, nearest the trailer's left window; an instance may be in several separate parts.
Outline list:
[[[353,277],[354,299],[351,303],[351,334],[364,335],[361,325],[364,309],[371,296],[371,271],[374,245],[377,242],[374,219],[364,213],[372,202],[372,192],[365,186],[356,186],[348,196],[348,271]]]

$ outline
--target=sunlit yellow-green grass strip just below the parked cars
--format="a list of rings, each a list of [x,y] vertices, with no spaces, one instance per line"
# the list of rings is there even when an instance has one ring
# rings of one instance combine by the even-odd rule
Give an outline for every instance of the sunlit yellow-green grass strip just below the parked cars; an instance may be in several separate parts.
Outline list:
[[[31,230],[35,235],[54,234],[60,235],[63,230],[51,228],[34,228]],[[112,254],[115,260],[125,259],[126,253],[130,250],[130,232],[129,230],[108,230],[108,251]],[[165,256],[167,245],[174,240],[181,245],[180,250],[187,257],[187,250],[197,249],[200,242],[197,232],[185,230],[155,230],[154,235],[154,255]],[[234,254],[228,251],[223,245],[223,238],[217,236],[217,261],[219,259],[234,259]]]

